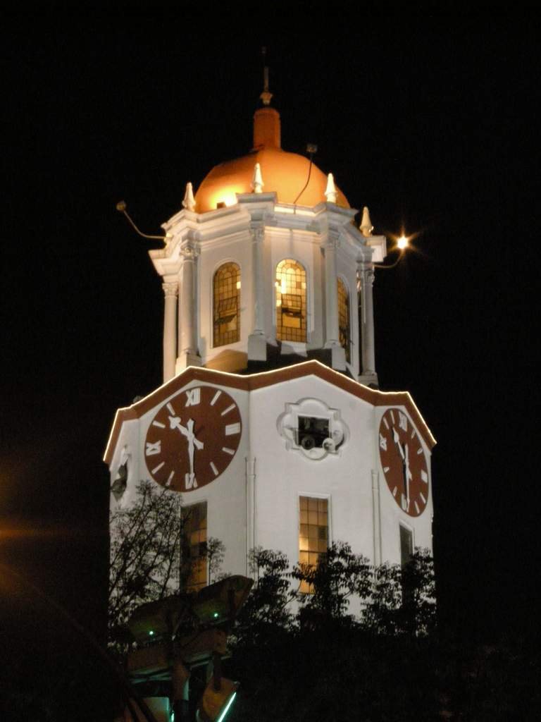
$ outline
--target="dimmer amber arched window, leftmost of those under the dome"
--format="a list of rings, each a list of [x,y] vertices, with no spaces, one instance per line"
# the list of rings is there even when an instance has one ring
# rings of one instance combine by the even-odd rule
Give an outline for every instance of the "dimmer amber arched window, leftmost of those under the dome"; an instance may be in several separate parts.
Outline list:
[[[213,345],[224,346],[240,340],[240,269],[226,263],[214,274]]]

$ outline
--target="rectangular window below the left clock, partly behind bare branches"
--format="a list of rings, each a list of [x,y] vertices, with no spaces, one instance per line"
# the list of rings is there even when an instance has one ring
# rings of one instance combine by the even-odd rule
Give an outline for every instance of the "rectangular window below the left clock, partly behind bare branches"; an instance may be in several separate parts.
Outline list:
[[[182,507],[182,576],[186,591],[207,585],[206,502]]]

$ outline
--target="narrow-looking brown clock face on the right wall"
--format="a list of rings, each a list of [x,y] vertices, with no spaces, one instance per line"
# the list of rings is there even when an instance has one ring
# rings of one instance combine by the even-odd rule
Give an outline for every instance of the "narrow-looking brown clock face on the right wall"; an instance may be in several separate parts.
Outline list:
[[[387,409],[379,424],[379,460],[397,505],[410,516],[423,513],[428,501],[428,464],[409,417]]]

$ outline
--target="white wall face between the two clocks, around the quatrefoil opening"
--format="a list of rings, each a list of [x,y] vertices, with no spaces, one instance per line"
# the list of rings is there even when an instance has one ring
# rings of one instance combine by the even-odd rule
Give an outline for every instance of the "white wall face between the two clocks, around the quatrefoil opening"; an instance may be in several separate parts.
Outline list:
[[[348,438],[337,454],[320,461],[286,448],[276,422],[287,403],[316,398],[340,409]],[[252,391],[252,454],[256,459],[256,542],[281,549],[292,563],[299,554],[299,496],[330,499],[332,540],[348,541],[355,552],[371,557],[372,417],[369,404],[312,377]]]

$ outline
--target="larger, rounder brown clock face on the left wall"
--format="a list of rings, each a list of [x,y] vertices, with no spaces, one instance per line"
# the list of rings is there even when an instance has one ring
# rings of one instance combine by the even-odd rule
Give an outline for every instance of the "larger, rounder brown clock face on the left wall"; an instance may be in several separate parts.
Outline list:
[[[222,474],[239,446],[242,420],[229,393],[193,386],[164,404],[146,432],[151,477],[178,492],[205,486]]]

